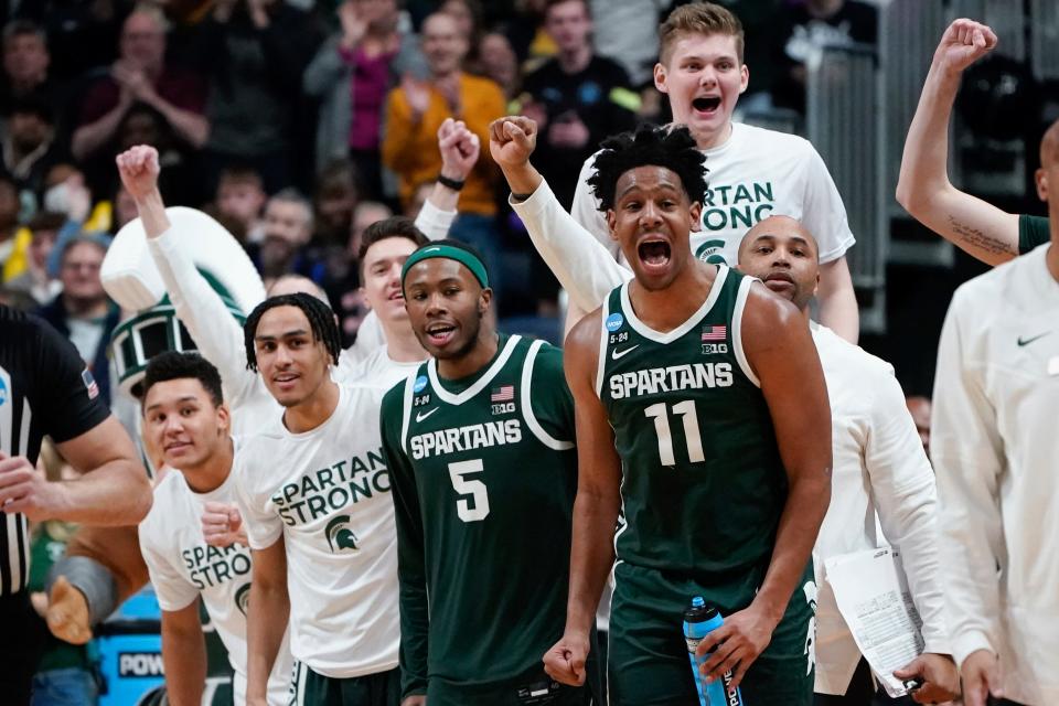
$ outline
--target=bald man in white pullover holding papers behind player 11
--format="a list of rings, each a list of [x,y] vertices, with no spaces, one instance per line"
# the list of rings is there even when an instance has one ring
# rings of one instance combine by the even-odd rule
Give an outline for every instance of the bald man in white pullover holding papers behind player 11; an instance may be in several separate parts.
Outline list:
[[[834,474],[832,502],[813,549],[820,586],[815,706],[871,703],[870,671],[838,613],[824,563],[881,544],[900,553],[923,619],[924,653],[895,675],[924,682],[913,693],[918,703],[949,700],[959,693],[960,678],[943,616],[934,478],[894,368],[810,320],[820,256],[816,239],[798,221],[772,216],[753,226],[739,247],[739,268],[802,312],[827,382]],[[885,537],[876,536],[876,513]]]

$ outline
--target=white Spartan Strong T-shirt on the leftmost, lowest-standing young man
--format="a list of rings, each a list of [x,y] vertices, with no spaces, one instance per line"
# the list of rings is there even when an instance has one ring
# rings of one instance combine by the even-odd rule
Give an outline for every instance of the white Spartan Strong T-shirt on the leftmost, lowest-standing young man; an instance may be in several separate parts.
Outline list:
[[[240,440],[236,439],[236,456]],[[186,608],[199,596],[228,651],[235,670],[235,702],[246,700],[246,606],[250,593],[250,550],[242,544],[218,549],[202,535],[207,502],[235,502],[234,475],[208,493],[188,486],[183,473],[171,471],[154,488],[154,504],[140,523],[140,550],[162,610]],[[268,703],[285,705],[292,671],[287,638],[268,681]]]

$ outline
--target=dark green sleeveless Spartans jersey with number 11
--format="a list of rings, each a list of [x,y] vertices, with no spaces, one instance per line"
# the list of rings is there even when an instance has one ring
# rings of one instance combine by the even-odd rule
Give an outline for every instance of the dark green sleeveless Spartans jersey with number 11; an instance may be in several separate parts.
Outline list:
[[[752,281],[718,266],[703,306],[667,333],[637,318],[628,284],[603,304],[596,389],[621,457],[619,560],[760,585],[787,475],[740,339]]]

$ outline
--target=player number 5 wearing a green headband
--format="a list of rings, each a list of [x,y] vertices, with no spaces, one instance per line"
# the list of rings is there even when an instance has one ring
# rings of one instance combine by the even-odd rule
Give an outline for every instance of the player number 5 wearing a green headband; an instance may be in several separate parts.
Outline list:
[[[461,243],[416,250],[403,282],[434,356],[382,410],[404,704],[589,704],[589,687],[557,684],[541,665],[563,633],[577,488],[561,353],[492,330],[485,265]]]

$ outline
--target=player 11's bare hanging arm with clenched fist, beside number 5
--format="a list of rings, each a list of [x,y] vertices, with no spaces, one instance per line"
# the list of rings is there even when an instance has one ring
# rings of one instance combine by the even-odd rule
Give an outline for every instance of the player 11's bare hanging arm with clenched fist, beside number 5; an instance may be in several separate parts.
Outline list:
[[[597,309],[570,332],[564,351],[577,429],[577,498],[570,547],[570,589],[563,638],[544,655],[544,668],[564,684],[585,683],[596,607],[614,560],[613,535],[621,506],[621,460],[607,410],[596,394],[599,336]]]

